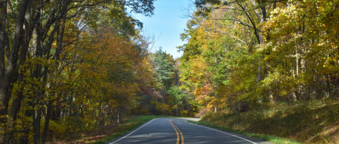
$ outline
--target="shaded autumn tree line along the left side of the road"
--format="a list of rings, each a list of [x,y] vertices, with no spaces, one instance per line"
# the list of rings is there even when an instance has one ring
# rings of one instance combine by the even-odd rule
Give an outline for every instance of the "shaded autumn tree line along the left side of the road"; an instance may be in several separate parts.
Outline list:
[[[1,0],[0,143],[118,123],[148,82],[150,41],[129,13],[152,15],[153,2]]]

